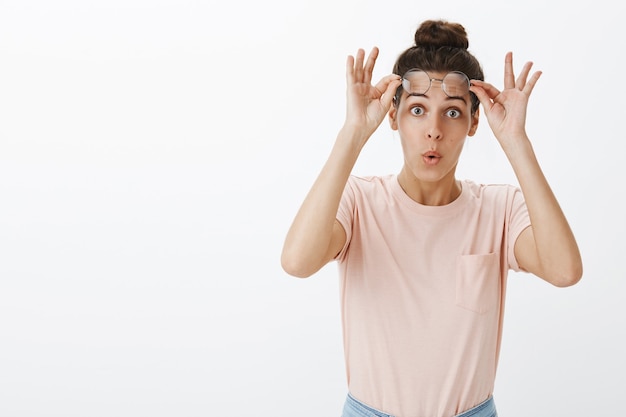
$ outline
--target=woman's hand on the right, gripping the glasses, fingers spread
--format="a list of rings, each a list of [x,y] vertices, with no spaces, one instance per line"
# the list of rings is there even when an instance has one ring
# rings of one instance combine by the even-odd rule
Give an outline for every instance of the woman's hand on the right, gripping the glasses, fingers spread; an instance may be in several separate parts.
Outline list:
[[[511,141],[526,138],[526,109],[541,71],[528,78],[532,62],[527,62],[515,79],[513,73],[513,53],[508,52],[504,60],[504,90],[499,91],[492,84],[471,80],[470,90],[482,104],[485,116],[494,135],[503,148]]]

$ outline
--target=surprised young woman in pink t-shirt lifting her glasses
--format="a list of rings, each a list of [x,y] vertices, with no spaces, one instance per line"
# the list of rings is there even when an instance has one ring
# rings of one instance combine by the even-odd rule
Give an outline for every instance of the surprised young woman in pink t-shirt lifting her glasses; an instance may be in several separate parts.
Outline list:
[[[526,271],[559,286],[582,276],[576,240],[526,135],[541,73],[504,89],[484,82],[463,26],[425,21],[393,74],[371,84],[378,55],[347,60],[347,115],[289,229],[285,271],[308,277],[337,261],[348,379],[344,417],[496,416],[494,380],[506,277]],[[519,187],[459,180],[479,106]],[[388,117],[404,164],[351,174]]]

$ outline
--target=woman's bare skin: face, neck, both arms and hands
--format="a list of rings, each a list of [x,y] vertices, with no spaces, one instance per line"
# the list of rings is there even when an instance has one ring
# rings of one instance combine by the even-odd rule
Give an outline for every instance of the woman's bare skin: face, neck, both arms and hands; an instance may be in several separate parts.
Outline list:
[[[401,138],[404,164],[398,181],[407,195],[421,204],[445,205],[461,193],[456,167],[466,137],[474,135],[478,127],[478,113],[471,114],[469,93],[465,100],[450,99],[433,81],[425,96],[408,97],[404,93],[395,108],[392,98],[400,77],[391,74],[371,84],[378,53],[378,48],[373,48],[367,60],[362,49],[356,56],[348,56],[346,120],[287,232],[281,263],[290,275],[313,275],[344,246],[346,233],[336,220],[341,195],[363,146],[386,117]],[[504,89],[472,80],[471,91],[481,102],[528,206],[531,226],[515,243],[517,261],[526,271],[565,287],[580,280],[582,260],[526,135],[528,99],[541,75],[537,71],[529,77],[531,67],[531,62],[526,63],[515,78],[509,52],[505,57]],[[431,74],[433,78],[443,75]]]

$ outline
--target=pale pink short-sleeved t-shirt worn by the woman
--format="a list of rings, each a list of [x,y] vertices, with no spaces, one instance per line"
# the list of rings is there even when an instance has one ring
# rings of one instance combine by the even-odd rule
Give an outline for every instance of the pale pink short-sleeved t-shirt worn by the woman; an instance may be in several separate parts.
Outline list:
[[[519,188],[462,182],[445,206],[396,175],[351,176],[337,214],[350,393],[397,417],[450,417],[494,388],[506,277],[530,225]]]

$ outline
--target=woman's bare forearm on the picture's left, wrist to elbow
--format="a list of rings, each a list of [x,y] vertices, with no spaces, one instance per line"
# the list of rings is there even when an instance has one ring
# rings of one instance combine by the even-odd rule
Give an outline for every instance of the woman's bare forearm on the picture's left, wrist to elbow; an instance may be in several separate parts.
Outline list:
[[[329,247],[341,196],[364,142],[352,129],[339,132],[287,232],[281,262],[289,274],[309,276],[330,260]]]

